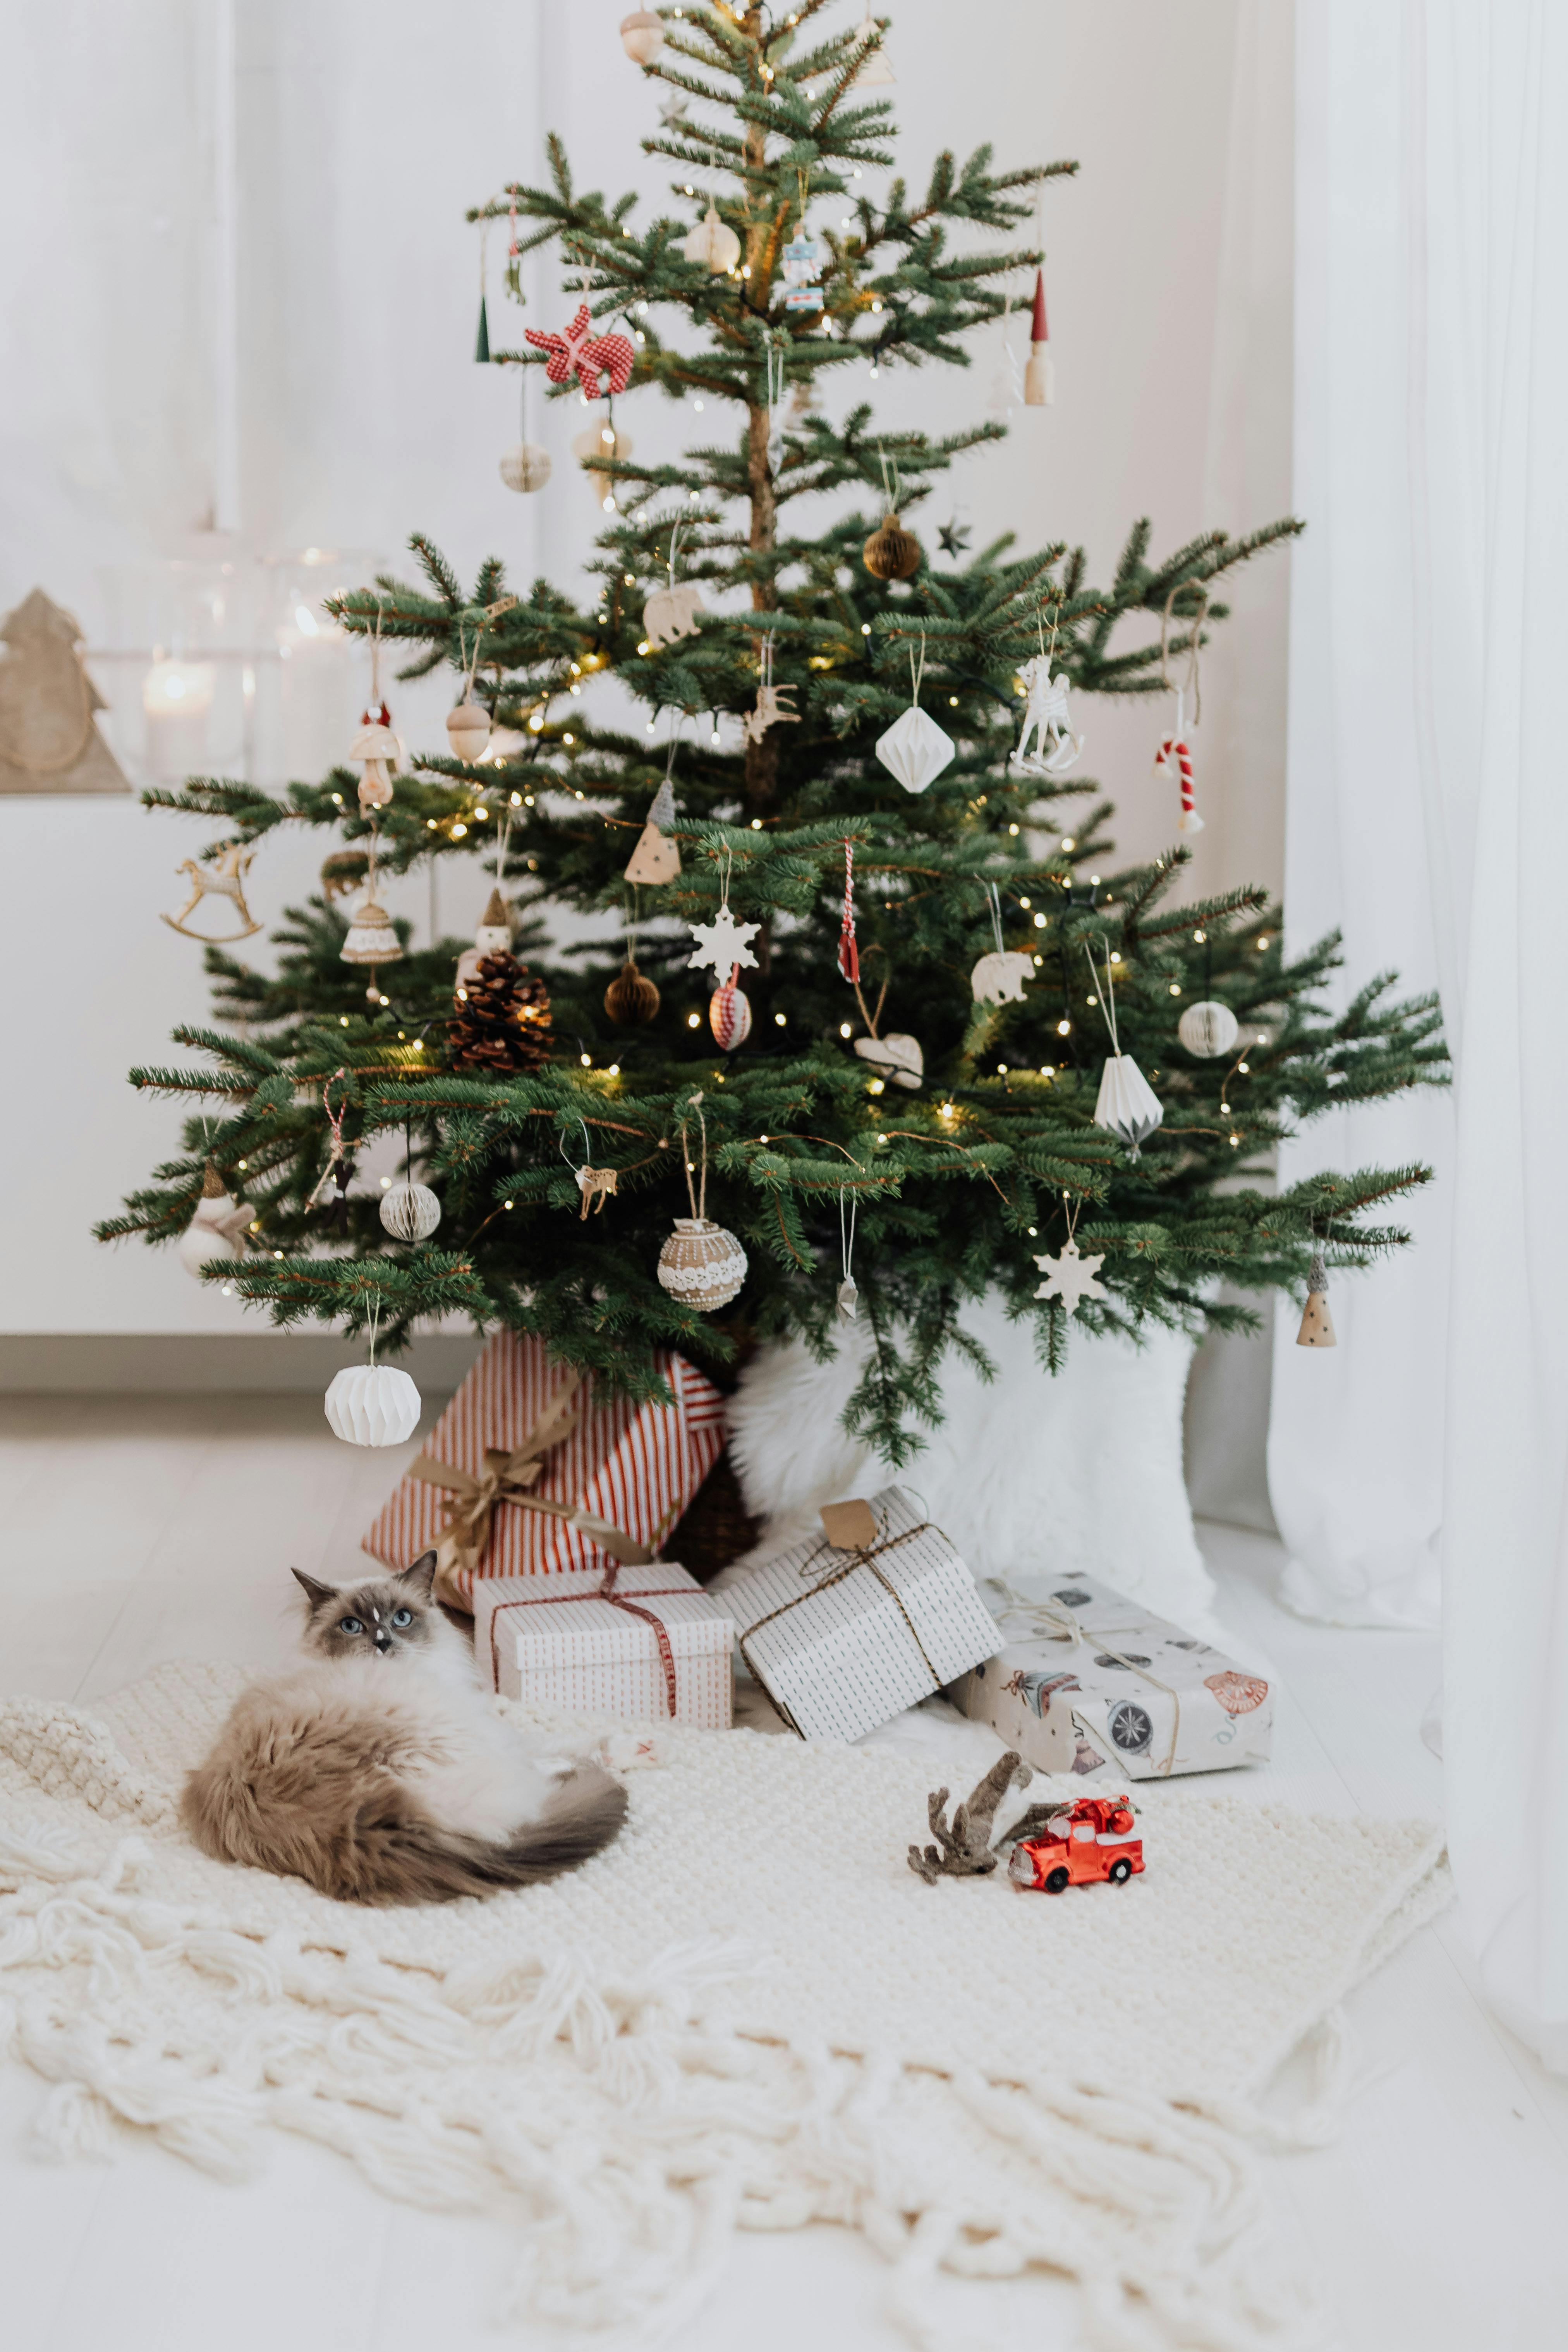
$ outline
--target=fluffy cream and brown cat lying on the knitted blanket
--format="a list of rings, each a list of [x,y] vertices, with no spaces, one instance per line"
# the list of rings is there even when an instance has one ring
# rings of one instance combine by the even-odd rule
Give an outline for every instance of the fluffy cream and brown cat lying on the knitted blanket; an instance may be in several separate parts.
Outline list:
[[[341,1903],[449,1903],[576,1870],[625,1820],[597,1764],[555,1778],[430,1597],[435,1552],[306,1592],[306,1663],[254,1682],[181,1795],[202,1853]]]

